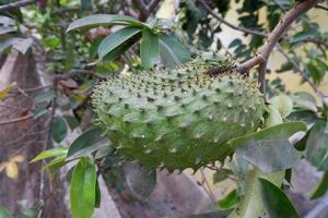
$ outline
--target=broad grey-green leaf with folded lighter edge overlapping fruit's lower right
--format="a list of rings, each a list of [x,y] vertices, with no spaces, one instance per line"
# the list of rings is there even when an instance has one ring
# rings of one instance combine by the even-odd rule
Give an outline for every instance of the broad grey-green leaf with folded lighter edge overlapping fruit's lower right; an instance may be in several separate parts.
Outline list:
[[[230,141],[236,154],[263,172],[291,168],[301,158],[289,142],[294,133],[306,131],[303,122],[286,122]]]

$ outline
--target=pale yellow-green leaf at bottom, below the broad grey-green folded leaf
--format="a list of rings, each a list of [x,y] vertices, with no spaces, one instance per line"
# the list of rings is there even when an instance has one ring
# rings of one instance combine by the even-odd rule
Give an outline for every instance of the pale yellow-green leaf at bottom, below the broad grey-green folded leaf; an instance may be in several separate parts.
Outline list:
[[[260,196],[259,178],[269,180],[276,185],[281,185],[284,178],[284,171],[273,173],[262,173],[258,169],[254,169],[246,175],[245,194],[238,207],[229,216],[229,218],[254,218],[261,217],[265,214],[262,199]]]

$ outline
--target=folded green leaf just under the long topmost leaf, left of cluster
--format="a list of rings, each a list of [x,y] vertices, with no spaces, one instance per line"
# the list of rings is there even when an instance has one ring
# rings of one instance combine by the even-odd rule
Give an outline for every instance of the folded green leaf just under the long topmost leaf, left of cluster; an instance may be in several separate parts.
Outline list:
[[[99,59],[103,59],[106,55],[110,53],[140,32],[141,29],[137,27],[125,27],[104,38],[98,47]]]

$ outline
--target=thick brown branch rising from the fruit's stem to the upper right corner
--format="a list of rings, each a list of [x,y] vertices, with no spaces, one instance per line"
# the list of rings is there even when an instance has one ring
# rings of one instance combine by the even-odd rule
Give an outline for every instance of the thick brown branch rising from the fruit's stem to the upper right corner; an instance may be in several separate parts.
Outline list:
[[[247,60],[236,68],[236,71],[248,72],[249,69],[255,65],[261,64],[268,61],[269,56],[280,39],[280,37],[285,33],[289,26],[303,13],[308,11],[311,8],[315,7],[318,0],[305,0],[300,1],[294,8],[285,13],[285,15],[280,20],[274,29],[269,34],[265,45],[258,50],[254,58]]]

